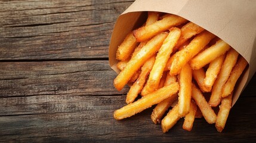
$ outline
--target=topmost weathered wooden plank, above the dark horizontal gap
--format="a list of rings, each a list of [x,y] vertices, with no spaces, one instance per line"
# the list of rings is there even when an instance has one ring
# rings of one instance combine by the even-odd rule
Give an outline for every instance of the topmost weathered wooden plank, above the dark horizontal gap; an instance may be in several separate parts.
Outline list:
[[[0,60],[107,58],[133,1],[0,1]]]

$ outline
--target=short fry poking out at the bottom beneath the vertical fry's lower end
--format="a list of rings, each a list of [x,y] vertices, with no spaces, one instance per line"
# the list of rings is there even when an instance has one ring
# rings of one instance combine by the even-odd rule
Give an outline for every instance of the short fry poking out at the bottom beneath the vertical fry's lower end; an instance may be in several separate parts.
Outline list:
[[[196,110],[197,110],[197,105],[195,102],[191,101],[190,103],[190,108],[189,108],[189,114],[185,116],[185,120],[183,123],[183,129],[187,131],[191,131],[193,128],[193,123],[195,121],[195,116],[196,116]]]

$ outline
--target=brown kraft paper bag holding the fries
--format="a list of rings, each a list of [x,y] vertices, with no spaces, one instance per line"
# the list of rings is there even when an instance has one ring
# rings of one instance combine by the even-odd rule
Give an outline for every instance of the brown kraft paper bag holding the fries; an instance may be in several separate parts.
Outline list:
[[[214,33],[248,61],[249,68],[234,90],[233,106],[256,71],[255,8],[256,2],[250,0],[137,0],[116,21],[109,46],[110,66],[119,73],[116,67],[116,49],[131,30],[146,20],[143,11],[176,14]]]

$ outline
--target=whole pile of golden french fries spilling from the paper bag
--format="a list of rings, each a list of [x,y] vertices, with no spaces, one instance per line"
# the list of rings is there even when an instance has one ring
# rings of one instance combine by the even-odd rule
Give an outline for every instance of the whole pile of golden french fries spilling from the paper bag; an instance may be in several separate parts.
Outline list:
[[[114,80],[115,88],[121,91],[127,84],[131,88],[127,105],[113,116],[125,119],[157,104],[151,119],[161,123],[163,132],[183,117],[183,129],[190,131],[195,117],[202,116],[222,132],[235,84],[248,64],[229,44],[202,27],[157,12],[148,12],[146,23],[127,35],[116,59],[121,72]],[[204,93],[211,95],[208,100]]]

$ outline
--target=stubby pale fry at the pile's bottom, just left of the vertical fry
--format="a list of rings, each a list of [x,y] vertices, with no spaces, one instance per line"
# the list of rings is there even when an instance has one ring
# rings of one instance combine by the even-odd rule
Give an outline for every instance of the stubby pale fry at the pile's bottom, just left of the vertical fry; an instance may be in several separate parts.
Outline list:
[[[168,114],[161,122],[163,132],[168,132],[168,130],[171,129],[178,120],[180,120],[180,116],[178,115],[178,104],[176,104],[171,110],[169,110]]]

